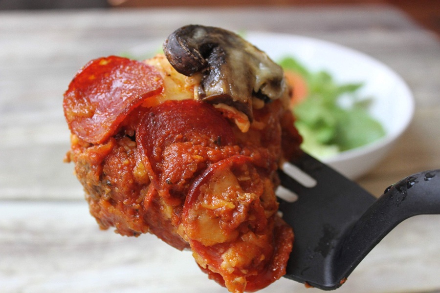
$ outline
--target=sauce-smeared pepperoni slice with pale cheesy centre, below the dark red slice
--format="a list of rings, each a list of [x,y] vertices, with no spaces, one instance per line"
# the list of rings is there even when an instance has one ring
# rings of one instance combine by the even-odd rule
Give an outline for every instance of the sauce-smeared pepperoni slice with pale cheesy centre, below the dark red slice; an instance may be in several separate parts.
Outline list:
[[[260,219],[247,223],[257,229],[266,224],[264,209],[258,205],[263,184],[251,158],[235,155],[208,167],[193,183],[183,207],[186,234],[204,246],[235,241],[239,226],[250,213]],[[254,214],[255,216],[255,214]]]

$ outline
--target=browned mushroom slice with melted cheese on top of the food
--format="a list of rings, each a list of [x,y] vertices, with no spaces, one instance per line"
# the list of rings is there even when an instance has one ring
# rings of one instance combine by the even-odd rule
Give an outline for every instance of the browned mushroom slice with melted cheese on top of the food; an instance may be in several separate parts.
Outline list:
[[[283,69],[239,35],[217,27],[188,25],[163,44],[168,61],[180,73],[202,73],[199,98],[231,105],[252,116],[252,97],[270,102],[285,89]]]

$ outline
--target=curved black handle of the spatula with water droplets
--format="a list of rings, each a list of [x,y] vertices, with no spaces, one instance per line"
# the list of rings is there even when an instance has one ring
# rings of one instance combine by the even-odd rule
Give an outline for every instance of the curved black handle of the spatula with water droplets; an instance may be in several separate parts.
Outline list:
[[[335,259],[338,275],[348,276],[385,235],[419,214],[440,214],[440,169],[408,176],[385,190],[346,235]]]

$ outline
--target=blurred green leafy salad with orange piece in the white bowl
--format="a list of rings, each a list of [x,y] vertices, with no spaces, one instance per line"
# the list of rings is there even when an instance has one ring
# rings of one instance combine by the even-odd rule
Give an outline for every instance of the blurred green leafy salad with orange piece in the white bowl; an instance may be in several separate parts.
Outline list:
[[[338,84],[329,72],[311,72],[292,57],[279,63],[291,77],[292,111],[306,152],[328,158],[385,135],[382,125],[369,114],[372,99],[358,93],[361,83]],[[295,87],[300,96],[295,96]]]

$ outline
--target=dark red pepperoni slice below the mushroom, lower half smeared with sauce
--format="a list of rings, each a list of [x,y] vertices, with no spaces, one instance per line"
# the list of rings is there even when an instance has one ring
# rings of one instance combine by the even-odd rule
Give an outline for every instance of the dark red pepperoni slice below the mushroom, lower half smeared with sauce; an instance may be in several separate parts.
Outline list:
[[[176,182],[170,182],[168,173],[178,173],[176,178],[192,177],[189,172],[196,170],[190,165],[206,162],[208,149],[233,145],[235,136],[227,119],[212,105],[196,100],[171,100],[147,109],[138,125],[136,142],[151,170],[152,182],[161,196],[169,197],[165,193]],[[175,152],[163,154],[171,145],[176,146]],[[167,169],[165,165],[172,167]]]

